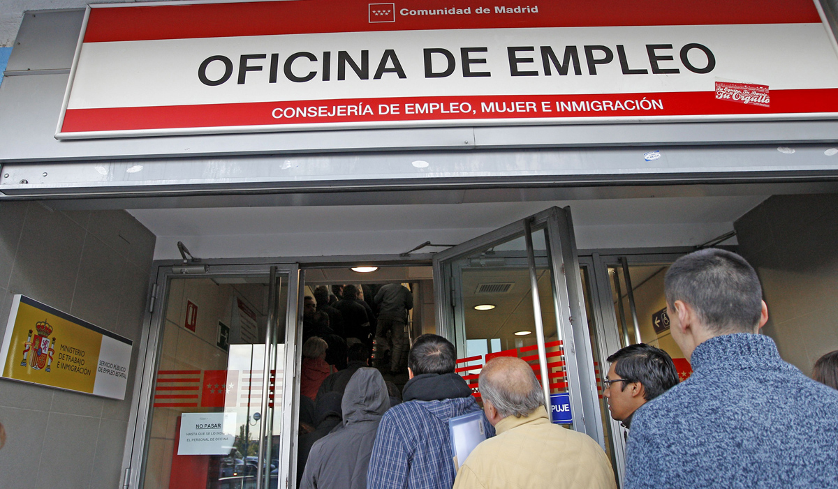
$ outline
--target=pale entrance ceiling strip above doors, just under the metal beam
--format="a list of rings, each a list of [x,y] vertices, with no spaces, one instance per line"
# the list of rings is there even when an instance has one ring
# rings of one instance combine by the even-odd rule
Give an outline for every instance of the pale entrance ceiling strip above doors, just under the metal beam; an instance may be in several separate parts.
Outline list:
[[[323,207],[129,210],[155,235],[230,236],[399,229],[497,228],[554,205],[571,206],[574,225],[732,223],[765,196],[628,198]]]

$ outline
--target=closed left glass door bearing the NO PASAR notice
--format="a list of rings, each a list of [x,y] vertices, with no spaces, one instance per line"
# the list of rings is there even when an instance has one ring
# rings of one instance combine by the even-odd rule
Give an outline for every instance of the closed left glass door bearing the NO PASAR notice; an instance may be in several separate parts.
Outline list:
[[[154,358],[144,373],[147,410],[138,416],[132,486],[284,486],[292,449],[296,265],[160,273],[163,304],[148,342],[157,347],[149,347]]]

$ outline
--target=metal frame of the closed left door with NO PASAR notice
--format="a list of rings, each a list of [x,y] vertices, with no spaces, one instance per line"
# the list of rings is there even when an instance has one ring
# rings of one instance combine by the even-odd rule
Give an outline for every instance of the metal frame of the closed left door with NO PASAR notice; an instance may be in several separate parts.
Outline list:
[[[299,266],[297,263],[274,263],[274,264],[230,264],[230,265],[213,265],[209,262],[209,270],[206,273],[199,273],[189,275],[196,279],[198,278],[212,278],[223,276],[241,276],[241,275],[267,275],[270,280],[272,270],[277,275],[287,275],[288,290],[287,290],[287,306],[285,317],[285,365],[283,371],[282,383],[282,433],[294,433],[297,430],[293,428],[293,421],[296,418],[294,403],[296,402],[296,379],[298,378],[298,363],[300,348],[297,348],[297,319],[302,313],[300,311],[301,301],[299,301]],[[145,471],[143,470],[146,463],[147,456],[147,441],[150,434],[151,425],[148,423],[149,414],[152,409],[153,392],[155,386],[155,373],[157,372],[160,354],[162,352],[163,342],[163,327],[165,326],[166,311],[168,309],[168,291],[171,286],[173,278],[184,278],[181,273],[176,273],[173,270],[171,262],[155,263],[157,267],[156,278],[152,279],[152,291],[148,301],[146,311],[146,318],[143,322],[143,335],[139,343],[139,351],[137,358],[137,373],[135,373],[135,382],[133,387],[132,399],[137,401],[132,403],[131,414],[128,420],[128,435],[125,441],[125,451],[122,461],[122,487],[140,487],[144,481]],[[152,275],[155,277],[155,275]],[[271,285],[273,286],[273,285]],[[278,294],[278,290],[277,290]],[[274,296],[277,296],[274,294]],[[282,297],[275,297],[275,299],[282,300]],[[270,338],[273,324],[268,324],[266,335]],[[267,353],[267,352],[266,352]],[[288,373],[292,375],[289,377]],[[269,379],[269,377],[266,377]],[[276,409],[276,406],[275,408]],[[268,416],[263,416],[259,421],[261,426],[260,432],[265,432],[265,425]],[[294,440],[294,437],[289,437]],[[263,440],[260,440],[262,442]],[[292,454],[296,451],[296,444],[291,445],[283,441],[281,443],[282,450],[280,454],[280,466],[286,467],[286,476],[290,478],[293,475],[293,470],[296,469],[296,460],[292,459]],[[292,460],[294,463],[292,464]],[[260,478],[261,478],[260,474]],[[286,481],[286,486],[287,486]],[[277,486],[281,484],[277,481]]]

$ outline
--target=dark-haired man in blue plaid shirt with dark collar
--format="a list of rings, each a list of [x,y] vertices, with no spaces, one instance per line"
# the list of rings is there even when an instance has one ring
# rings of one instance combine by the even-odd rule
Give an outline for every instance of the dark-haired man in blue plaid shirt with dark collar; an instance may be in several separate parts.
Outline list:
[[[479,411],[454,365],[454,345],[435,334],[416,338],[407,356],[404,402],[389,409],[372,448],[368,489],[451,489],[457,471],[448,420]],[[487,438],[494,427],[484,417]]]

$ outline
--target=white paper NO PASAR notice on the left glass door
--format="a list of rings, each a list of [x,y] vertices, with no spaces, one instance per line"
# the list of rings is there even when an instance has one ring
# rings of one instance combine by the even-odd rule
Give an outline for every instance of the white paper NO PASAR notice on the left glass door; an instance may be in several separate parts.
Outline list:
[[[235,440],[235,413],[180,415],[178,455],[227,455]]]

